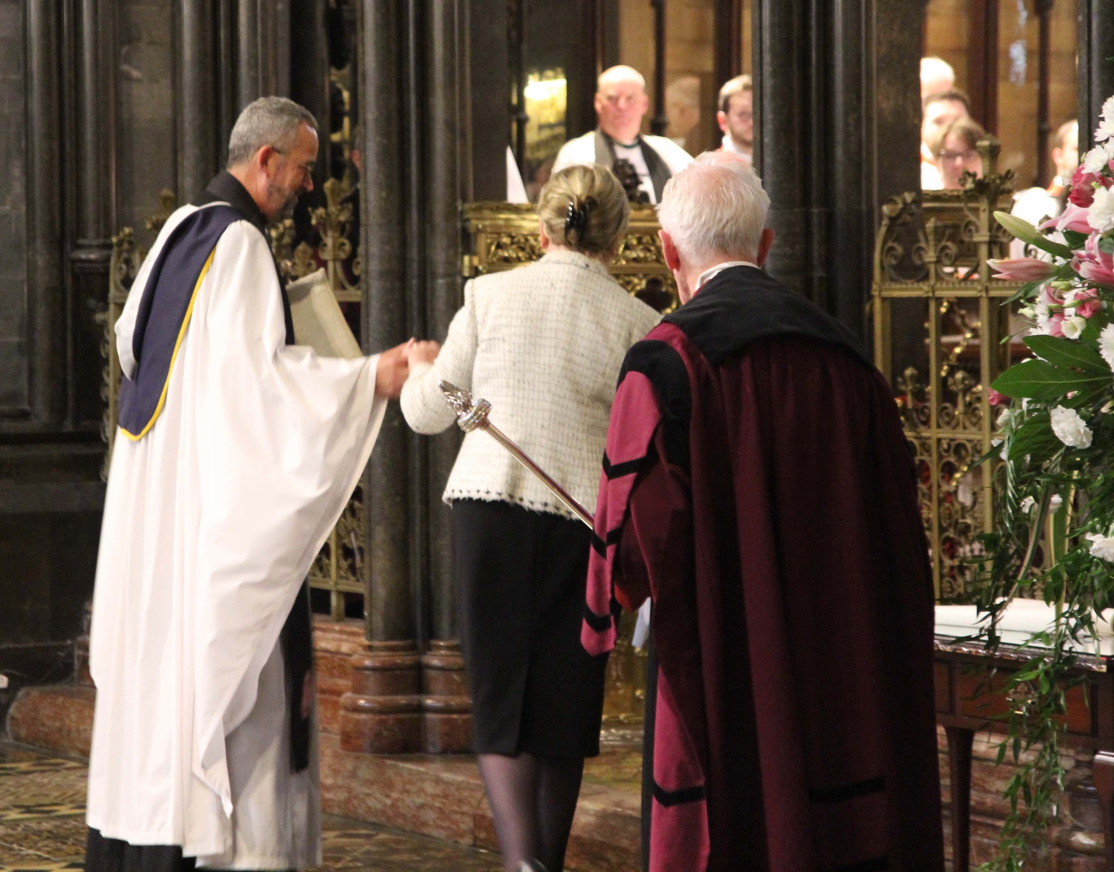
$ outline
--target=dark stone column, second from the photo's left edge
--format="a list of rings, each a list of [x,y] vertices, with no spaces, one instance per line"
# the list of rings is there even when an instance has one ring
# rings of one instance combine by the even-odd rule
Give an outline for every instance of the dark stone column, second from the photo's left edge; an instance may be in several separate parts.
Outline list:
[[[67,418],[79,429],[99,430],[104,327],[95,315],[108,307],[108,265],[116,231],[115,1],[81,0],[76,36],[77,238],[70,252],[74,286]]]

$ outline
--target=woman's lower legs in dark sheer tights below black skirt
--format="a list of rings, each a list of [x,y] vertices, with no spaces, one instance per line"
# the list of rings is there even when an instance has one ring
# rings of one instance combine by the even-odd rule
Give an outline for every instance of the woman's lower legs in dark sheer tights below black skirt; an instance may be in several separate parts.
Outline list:
[[[546,872],[561,872],[584,757],[480,754],[479,764],[504,872],[519,872],[531,860]]]

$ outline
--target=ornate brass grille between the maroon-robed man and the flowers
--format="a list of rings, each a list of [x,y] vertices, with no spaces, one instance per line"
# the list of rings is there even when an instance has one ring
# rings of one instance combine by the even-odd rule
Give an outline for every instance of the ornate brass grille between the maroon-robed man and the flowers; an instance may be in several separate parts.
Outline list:
[[[979,143],[993,167],[998,144]],[[882,207],[873,262],[874,362],[893,385],[917,461],[921,517],[936,594],[964,595],[975,537],[989,531],[993,447],[986,385],[1028,356],[1026,325],[1003,303],[1019,284],[990,277],[987,259],[1013,238],[994,218],[1009,212],[1013,174],[968,177],[964,190],[905,194]]]

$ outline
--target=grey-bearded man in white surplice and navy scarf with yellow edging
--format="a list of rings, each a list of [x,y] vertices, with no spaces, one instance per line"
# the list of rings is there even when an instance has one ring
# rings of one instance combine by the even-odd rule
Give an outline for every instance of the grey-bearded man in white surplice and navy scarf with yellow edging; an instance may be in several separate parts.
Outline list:
[[[401,347],[295,345],[266,222],[313,187],[316,123],[264,97],[175,212],[116,325],[97,564],[86,869],[321,862],[304,579],[364,468]]]

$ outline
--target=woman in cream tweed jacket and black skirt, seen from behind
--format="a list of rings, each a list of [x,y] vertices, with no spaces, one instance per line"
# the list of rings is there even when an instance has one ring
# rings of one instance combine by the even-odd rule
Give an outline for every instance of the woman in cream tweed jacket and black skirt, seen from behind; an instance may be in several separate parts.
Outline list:
[[[608,276],[628,216],[609,170],[555,174],[538,214],[545,256],[469,282],[440,353],[410,349],[402,412],[437,433],[455,422],[438,381],[470,390],[593,511],[619,366],[659,316]],[[444,500],[473,747],[505,869],[555,872],[584,758],[599,753],[606,663],[580,646],[590,530],[478,431],[465,437]]]

